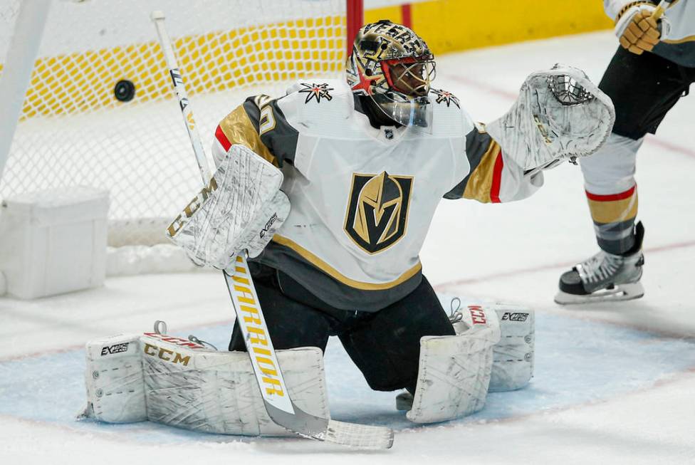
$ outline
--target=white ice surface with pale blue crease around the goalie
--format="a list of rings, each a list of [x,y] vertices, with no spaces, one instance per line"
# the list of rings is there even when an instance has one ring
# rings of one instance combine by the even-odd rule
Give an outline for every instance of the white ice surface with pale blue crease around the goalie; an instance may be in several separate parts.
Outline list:
[[[600,79],[609,32],[439,57],[437,87],[481,121],[513,102],[523,78],[555,62]],[[524,202],[441,203],[422,250],[446,293],[511,301],[537,313],[536,371],[524,390],[488,396],[479,414],[420,427],[372,392],[340,344],[326,352],[333,417],[397,430],[393,449],[365,453],[304,439],[206,436],[140,423],[74,422],[85,341],[169,332],[223,345],[233,310],[216,273],[110,278],[103,288],[22,302],[0,298],[0,464],[695,464],[695,100],[683,98],[639,153],[646,294],[562,308],[558,277],[595,252],[578,167],[546,174]]]

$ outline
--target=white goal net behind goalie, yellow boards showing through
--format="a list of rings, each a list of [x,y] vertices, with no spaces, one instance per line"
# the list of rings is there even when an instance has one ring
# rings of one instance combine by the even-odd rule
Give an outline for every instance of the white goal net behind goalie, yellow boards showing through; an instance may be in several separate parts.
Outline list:
[[[206,147],[246,96],[340,77],[362,22],[361,0],[0,0],[1,198],[108,189],[111,246],[166,241],[200,179],[157,9]]]

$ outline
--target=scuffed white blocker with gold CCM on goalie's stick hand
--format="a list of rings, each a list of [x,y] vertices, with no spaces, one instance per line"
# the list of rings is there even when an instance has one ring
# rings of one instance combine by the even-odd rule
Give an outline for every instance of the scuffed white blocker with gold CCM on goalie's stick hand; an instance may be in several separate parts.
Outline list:
[[[282,172],[243,145],[232,145],[209,187],[172,222],[167,235],[199,266],[225,269],[246,250],[251,258],[290,211]]]

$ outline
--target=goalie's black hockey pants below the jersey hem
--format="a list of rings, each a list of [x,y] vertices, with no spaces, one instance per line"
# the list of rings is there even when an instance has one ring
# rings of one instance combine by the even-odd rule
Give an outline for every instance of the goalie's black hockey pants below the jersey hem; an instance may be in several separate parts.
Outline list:
[[[373,390],[414,391],[425,335],[454,335],[426,278],[412,293],[375,313],[346,311],[320,301],[290,276],[268,266],[252,269],[258,300],[276,349],[318,347],[337,335]],[[234,325],[229,350],[246,350]]]

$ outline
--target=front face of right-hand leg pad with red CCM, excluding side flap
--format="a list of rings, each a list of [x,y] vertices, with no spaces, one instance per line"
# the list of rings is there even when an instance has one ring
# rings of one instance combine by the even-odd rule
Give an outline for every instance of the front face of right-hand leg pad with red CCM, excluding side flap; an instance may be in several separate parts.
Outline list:
[[[485,405],[490,383],[493,345],[500,340],[494,310],[469,305],[454,324],[454,336],[425,336],[420,340],[417,388],[412,422],[432,423],[464,417]]]

